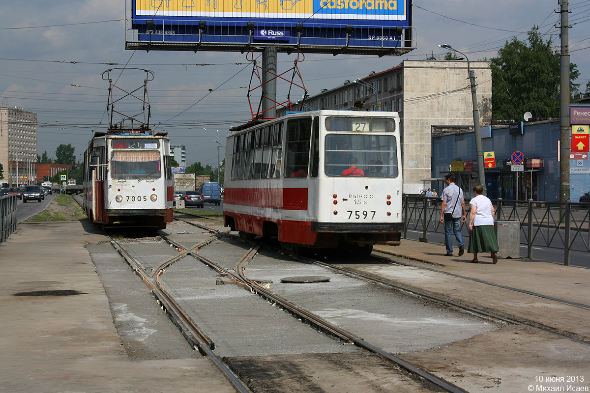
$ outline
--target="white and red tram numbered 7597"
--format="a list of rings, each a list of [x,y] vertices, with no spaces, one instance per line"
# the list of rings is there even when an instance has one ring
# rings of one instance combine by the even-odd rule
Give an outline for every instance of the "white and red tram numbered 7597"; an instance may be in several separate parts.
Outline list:
[[[295,249],[399,245],[398,113],[292,113],[231,131],[225,226]]]

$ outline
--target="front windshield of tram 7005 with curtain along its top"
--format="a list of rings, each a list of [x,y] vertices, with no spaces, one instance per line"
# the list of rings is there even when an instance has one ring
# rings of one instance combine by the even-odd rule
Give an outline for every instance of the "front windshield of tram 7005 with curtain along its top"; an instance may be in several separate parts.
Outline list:
[[[159,179],[162,176],[160,152],[113,150],[110,169],[112,179]]]

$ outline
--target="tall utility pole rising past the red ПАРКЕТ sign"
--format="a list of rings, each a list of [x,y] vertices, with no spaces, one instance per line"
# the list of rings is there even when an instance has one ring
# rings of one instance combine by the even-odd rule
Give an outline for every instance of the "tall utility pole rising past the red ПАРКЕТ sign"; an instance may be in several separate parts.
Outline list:
[[[561,52],[559,57],[559,202],[569,200],[569,9],[568,1],[559,0],[561,5]]]

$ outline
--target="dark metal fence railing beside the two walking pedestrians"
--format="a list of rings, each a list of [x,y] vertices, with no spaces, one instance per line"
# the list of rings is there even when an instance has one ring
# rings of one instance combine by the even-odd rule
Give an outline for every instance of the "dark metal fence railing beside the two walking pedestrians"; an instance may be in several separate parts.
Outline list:
[[[572,250],[590,252],[590,203],[543,202],[533,200],[492,199],[496,220],[519,222],[520,244],[527,246],[527,257],[533,258],[533,246],[563,250],[563,264],[569,265]],[[465,201],[469,222],[469,200]],[[404,239],[408,230],[444,234],[440,222],[440,199],[404,196]],[[465,223],[461,233],[468,236]]]

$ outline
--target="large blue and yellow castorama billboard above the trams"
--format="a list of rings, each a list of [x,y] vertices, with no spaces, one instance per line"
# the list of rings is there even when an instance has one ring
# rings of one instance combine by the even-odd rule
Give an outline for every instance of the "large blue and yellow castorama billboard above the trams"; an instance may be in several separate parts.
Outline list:
[[[412,0],[127,0],[127,49],[400,55]]]

